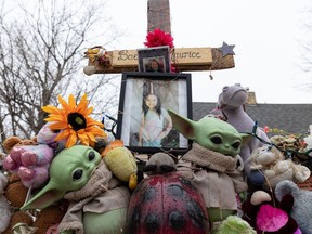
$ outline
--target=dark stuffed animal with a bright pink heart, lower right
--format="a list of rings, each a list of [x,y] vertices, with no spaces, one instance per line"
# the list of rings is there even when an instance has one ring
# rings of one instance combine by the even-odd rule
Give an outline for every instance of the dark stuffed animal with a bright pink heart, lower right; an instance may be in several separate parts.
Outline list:
[[[289,214],[294,199],[289,196],[278,203],[266,192],[256,191],[243,203],[242,219],[259,234],[301,234],[296,220]]]

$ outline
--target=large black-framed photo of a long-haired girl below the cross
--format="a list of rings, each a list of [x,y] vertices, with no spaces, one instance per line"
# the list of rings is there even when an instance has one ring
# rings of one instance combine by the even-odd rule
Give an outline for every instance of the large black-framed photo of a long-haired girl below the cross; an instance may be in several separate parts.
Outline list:
[[[185,153],[167,109],[192,119],[191,74],[122,73],[116,138],[139,154]]]

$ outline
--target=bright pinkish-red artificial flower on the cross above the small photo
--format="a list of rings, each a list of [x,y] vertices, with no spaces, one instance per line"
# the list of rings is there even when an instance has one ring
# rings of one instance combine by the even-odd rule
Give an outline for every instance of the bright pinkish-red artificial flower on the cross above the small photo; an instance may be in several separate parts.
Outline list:
[[[148,48],[161,46],[169,46],[169,48],[174,47],[172,36],[162,31],[160,28],[156,28],[154,31],[150,31],[146,36],[146,42],[144,42],[144,44]]]

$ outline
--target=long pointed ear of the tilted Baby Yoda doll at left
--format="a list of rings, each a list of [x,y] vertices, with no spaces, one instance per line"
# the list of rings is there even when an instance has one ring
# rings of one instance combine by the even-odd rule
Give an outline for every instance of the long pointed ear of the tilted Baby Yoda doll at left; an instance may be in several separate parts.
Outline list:
[[[24,206],[21,207],[21,210],[43,209],[62,199],[64,195],[64,191],[60,191],[48,183],[38,194],[26,202]]]

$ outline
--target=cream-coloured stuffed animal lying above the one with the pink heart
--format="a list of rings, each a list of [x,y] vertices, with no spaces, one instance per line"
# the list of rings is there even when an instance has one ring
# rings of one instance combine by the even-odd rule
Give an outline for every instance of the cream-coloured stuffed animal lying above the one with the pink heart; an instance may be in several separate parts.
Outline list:
[[[306,166],[295,164],[291,159],[284,159],[284,155],[272,145],[256,148],[250,157],[250,169],[261,171],[266,181],[264,187],[275,187],[280,181],[291,180],[297,183],[306,181],[311,171]]]

